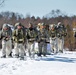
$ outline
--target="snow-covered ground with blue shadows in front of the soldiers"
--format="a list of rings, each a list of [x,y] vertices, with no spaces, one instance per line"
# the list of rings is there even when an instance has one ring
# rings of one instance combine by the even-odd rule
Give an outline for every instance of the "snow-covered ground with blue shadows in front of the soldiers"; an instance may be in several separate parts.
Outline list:
[[[0,58],[0,75],[76,75],[76,52],[19,60]]]

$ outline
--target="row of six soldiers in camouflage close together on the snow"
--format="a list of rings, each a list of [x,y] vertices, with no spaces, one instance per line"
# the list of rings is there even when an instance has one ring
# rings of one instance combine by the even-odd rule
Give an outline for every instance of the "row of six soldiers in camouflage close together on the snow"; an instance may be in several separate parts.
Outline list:
[[[38,23],[36,27],[29,23],[25,28],[21,23],[14,25],[14,30],[8,24],[3,24],[0,31],[2,40],[1,58],[15,57],[24,59],[26,48],[30,58],[47,55],[47,44],[51,46],[51,52],[63,52],[64,37],[67,35],[66,27],[59,22],[58,24]],[[35,52],[35,43],[38,43],[38,51]],[[14,49],[12,49],[14,45]],[[25,47],[26,46],[26,47]]]

